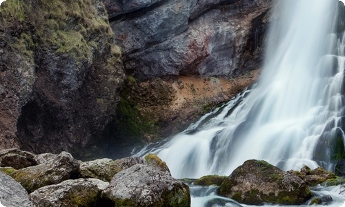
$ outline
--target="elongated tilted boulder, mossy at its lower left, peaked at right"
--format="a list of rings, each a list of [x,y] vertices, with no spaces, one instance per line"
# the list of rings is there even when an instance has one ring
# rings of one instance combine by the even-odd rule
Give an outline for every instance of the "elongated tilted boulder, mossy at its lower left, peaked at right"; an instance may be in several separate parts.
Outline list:
[[[61,152],[50,162],[17,170],[10,176],[31,193],[43,186],[77,178],[79,164],[80,161],[74,159],[70,153]]]

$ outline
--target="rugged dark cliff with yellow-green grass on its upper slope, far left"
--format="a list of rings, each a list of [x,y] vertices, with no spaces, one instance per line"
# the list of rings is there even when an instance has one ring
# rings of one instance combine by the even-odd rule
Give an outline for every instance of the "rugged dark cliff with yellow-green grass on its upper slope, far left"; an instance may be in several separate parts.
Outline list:
[[[103,3],[8,0],[0,15],[0,147],[83,156],[124,79]]]

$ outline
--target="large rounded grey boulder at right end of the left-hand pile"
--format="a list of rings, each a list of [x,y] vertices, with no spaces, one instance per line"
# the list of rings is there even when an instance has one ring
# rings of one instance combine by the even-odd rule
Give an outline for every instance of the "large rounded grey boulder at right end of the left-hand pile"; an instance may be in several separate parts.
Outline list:
[[[159,164],[137,164],[117,173],[102,197],[116,206],[190,206],[186,184]]]

